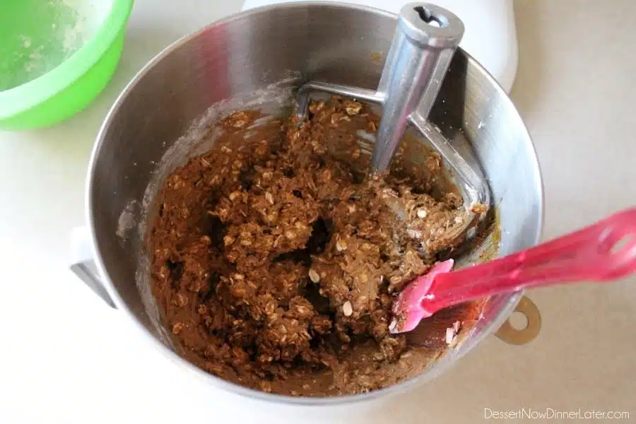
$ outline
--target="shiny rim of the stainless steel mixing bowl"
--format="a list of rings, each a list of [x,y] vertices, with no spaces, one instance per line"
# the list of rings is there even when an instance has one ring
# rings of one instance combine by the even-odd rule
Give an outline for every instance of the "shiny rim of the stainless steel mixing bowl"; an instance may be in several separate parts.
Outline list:
[[[135,88],[135,86],[139,83],[139,81],[141,81],[141,79],[144,76],[146,76],[146,73],[148,73],[149,71],[151,71],[151,69],[153,69],[153,67],[156,64],[158,64],[160,61],[165,59],[165,57],[170,55],[179,47],[182,47],[183,45],[186,45],[188,42],[191,42],[192,40],[196,39],[196,37],[199,37],[202,33],[205,33],[212,27],[216,27],[218,25],[225,25],[225,24],[231,23],[234,20],[244,19],[244,18],[247,18],[247,16],[251,16],[253,14],[263,13],[269,10],[276,10],[278,8],[295,8],[295,7],[303,8],[307,6],[314,6],[314,7],[329,6],[334,8],[350,8],[350,9],[354,9],[358,11],[372,12],[372,13],[376,13],[379,16],[385,16],[387,18],[391,18],[395,20],[396,23],[398,19],[398,16],[395,13],[384,11],[382,9],[375,8],[372,6],[349,4],[349,3],[343,3],[343,1],[332,1],[332,0],[313,0],[313,1],[293,0],[293,1],[285,1],[284,3],[279,3],[279,4],[269,4],[266,6],[259,6],[257,8],[250,8],[245,11],[232,13],[230,16],[226,16],[225,18],[220,18],[211,23],[208,23],[208,25],[205,25],[203,28],[199,28],[199,30],[189,33],[188,35],[184,35],[183,37],[180,37],[178,40],[175,40],[175,42],[172,42],[172,44],[167,45],[161,52],[156,54],[155,57],[150,59],[135,74],[133,78],[131,78],[129,83],[126,85],[126,87],[124,87],[124,89],[119,93],[119,96],[117,97],[117,99],[113,102],[104,121],[102,122],[102,125],[100,126],[98,134],[95,138],[95,143],[93,144],[93,150],[90,153],[90,158],[88,161],[88,170],[87,170],[87,177],[86,177],[86,184],[85,184],[85,199],[86,199],[85,215],[86,215],[86,223],[87,223],[88,232],[90,233],[90,243],[93,248],[93,254],[94,254],[93,260],[95,261],[95,266],[98,269],[99,275],[102,277],[101,283],[106,289],[107,294],[110,296],[110,298],[114,302],[114,305],[117,308],[117,310],[122,311],[122,313],[126,316],[126,319],[129,319],[129,321],[131,321],[131,324],[134,327],[136,327],[137,331],[139,331],[140,336],[143,335],[143,337],[146,338],[146,341],[148,341],[149,345],[154,346],[155,349],[161,355],[163,355],[165,358],[170,360],[170,362],[172,362],[174,365],[179,367],[180,370],[184,370],[185,372],[187,372],[187,374],[192,376],[196,382],[200,384],[204,384],[206,387],[213,387],[215,389],[220,389],[229,394],[242,396],[244,399],[250,399],[252,401],[263,402],[264,405],[270,404],[270,405],[276,405],[276,406],[298,406],[298,407],[310,406],[310,407],[324,408],[324,407],[345,406],[345,405],[353,405],[353,404],[365,404],[370,401],[382,399],[390,395],[404,393],[408,391],[409,389],[419,387],[420,385],[425,384],[425,382],[430,382],[432,379],[435,379],[436,377],[441,375],[443,372],[447,371],[449,367],[452,367],[455,363],[457,363],[457,360],[459,360],[459,358],[463,357],[464,355],[472,351],[473,348],[472,347],[469,348],[468,350],[464,351],[461,355],[455,355],[454,360],[449,360],[444,362],[441,366],[436,367],[435,370],[429,370],[427,372],[424,372],[422,375],[418,375],[411,379],[406,379],[402,382],[391,385],[389,387],[384,387],[382,389],[377,389],[377,390],[370,391],[367,393],[362,393],[362,394],[347,394],[343,396],[325,396],[325,397],[286,396],[281,394],[266,393],[264,391],[252,389],[249,387],[244,387],[244,386],[241,386],[240,384],[229,382],[228,380],[222,379],[220,377],[217,377],[216,375],[206,372],[205,370],[202,370],[201,368],[197,367],[193,363],[190,363],[188,360],[182,358],[182,356],[179,355],[176,351],[173,351],[168,346],[166,346],[162,341],[160,341],[157,337],[155,337],[151,333],[151,331],[148,328],[146,328],[146,326],[144,326],[142,322],[139,321],[134,311],[131,310],[131,308],[129,307],[129,305],[126,304],[126,302],[124,302],[122,296],[119,295],[119,292],[117,291],[117,289],[114,287],[114,284],[112,283],[111,273],[108,271],[104,261],[102,260],[102,252],[101,252],[102,249],[100,249],[100,245],[98,245],[98,239],[97,239],[96,231],[95,231],[95,215],[93,213],[95,202],[93,201],[93,195],[92,195],[93,182],[95,177],[95,167],[97,163],[98,154],[100,153],[102,145],[104,143],[105,134],[110,128],[112,121],[115,115],[117,114],[117,111],[122,106],[122,104],[126,101],[126,98],[128,98],[129,93]],[[492,74],[488,72],[488,70],[483,68],[483,66],[481,66],[481,64],[476,59],[474,59],[471,56],[471,54],[466,52],[466,50],[461,49],[461,47],[458,47],[457,50],[461,51],[461,54],[464,54],[469,61],[473,62],[473,64],[476,64],[476,66],[478,66],[478,69],[480,69],[480,71],[483,72],[485,78],[488,81],[490,81],[490,83],[492,83],[493,86],[495,86],[495,90],[502,93],[505,96],[505,98],[507,98],[512,104],[510,95],[508,95],[508,93],[505,92],[505,90],[500,86],[500,84],[492,76]],[[522,129],[521,129],[522,134],[524,138],[526,138],[527,141],[529,142],[528,146],[526,147],[529,148],[529,150],[532,153],[532,157],[534,159],[533,172],[538,177],[538,187],[536,187],[537,200],[538,200],[538,216],[536,217],[537,232],[534,237],[534,240],[531,240],[531,245],[537,245],[539,240],[541,240],[541,236],[543,234],[543,223],[544,223],[544,217],[545,217],[543,175],[541,174],[541,167],[538,163],[538,157],[536,155],[536,147],[534,146],[534,141],[532,140],[531,135],[526,127],[526,124],[523,121],[521,115],[519,114],[519,111],[517,110],[516,107],[514,107],[514,104],[512,105],[514,110],[514,117],[515,119],[519,119],[519,121],[522,123]],[[481,343],[481,341],[483,341],[484,338],[490,335],[493,335],[495,329],[499,328],[499,326],[501,326],[508,319],[508,317],[510,317],[510,314],[512,314],[512,312],[514,311],[514,308],[517,306],[517,303],[519,303],[519,300],[521,300],[523,295],[524,295],[523,290],[510,294],[510,298],[507,300],[505,305],[502,306],[502,309],[500,313],[497,315],[497,317],[493,319],[493,321],[488,323],[487,326],[485,326],[485,328],[483,329],[480,335],[476,336],[473,342],[473,347],[476,346],[478,343]],[[449,357],[446,356],[442,360],[448,359],[448,358]]]

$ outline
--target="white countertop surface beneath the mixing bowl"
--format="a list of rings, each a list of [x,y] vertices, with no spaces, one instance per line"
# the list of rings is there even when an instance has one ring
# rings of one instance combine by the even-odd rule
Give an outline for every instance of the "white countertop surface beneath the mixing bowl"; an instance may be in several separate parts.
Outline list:
[[[90,148],[117,93],[170,42],[240,8],[228,3],[136,1],[122,62],[98,100],[51,129],[0,131],[0,423],[290,421],[287,410],[187,386],[65,268],[69,231],[83,225]],[[536,143],[549,238],[636,204],[636,2],[515,6],[512,98]],[[636,279],[530,297],[543,318],[535,341],[488,338],[432,384],[329,422],[474,423],[484,408],[630,411],[625,422],[636,420]],[[323,421],[322,411],[293,420]]]

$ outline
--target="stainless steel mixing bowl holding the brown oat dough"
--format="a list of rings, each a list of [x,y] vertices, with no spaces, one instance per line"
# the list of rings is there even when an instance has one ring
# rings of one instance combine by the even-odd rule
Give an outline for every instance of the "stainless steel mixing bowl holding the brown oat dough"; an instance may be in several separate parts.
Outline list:
[[[165,49],[126,87],[105,119],[86,192],[90,244],[100,276],[90,261],[78,261],[73,269],[155,348],[210,386],[295,404],[375,399],[439,375],[493,334],[522,298],[522,293],[491,298],[476,329],[423,375],[367,394],[325,399],[265,394],[209,375],[175,353],[159,324],[143,240],[153,196],[165,175],[209,147],[200,141],[206,124],[232,110],[262,105],[269,112],[289,112],[293,88],[305,81],[374,89],[395,28],[391,13],[314,1],[240,13]],[[535,245],[543,198],[530,136],[505,92],[461,49],[430,119],[462,155],[481,165],[500,215],[500,254]],[[414,155],[413,163],[420,160]],[[498,241],[490,237],[482,249]],[[473,252],[464,263],[479,254]]]

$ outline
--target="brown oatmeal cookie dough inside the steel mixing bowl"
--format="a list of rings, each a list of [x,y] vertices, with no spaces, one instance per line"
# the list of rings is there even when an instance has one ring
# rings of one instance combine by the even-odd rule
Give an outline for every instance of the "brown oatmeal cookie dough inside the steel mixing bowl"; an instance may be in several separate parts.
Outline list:
[[[257,124],[258,123],[258,124]],[[455,192],[394,160],[366,177],[367,105],[314,102],[305,121],[235,112],[213,151],[167,178],[149,235],[153,294],[180,353],[232,382],[332,396],[413,377],[476,319],[474,305],[432,317],[430,343],[388,331],[391,301],[461,242]]]

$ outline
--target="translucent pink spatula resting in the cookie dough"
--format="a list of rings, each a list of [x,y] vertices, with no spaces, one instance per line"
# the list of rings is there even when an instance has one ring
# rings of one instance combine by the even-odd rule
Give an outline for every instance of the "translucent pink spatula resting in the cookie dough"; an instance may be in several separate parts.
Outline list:
[[[449,272],[452,266],[452,259],[440,262],[401,291],[393,305],[391,333],[411,331],[421,319],[469,300],[629,275],[636,271],[636,208],[485,264]]]

